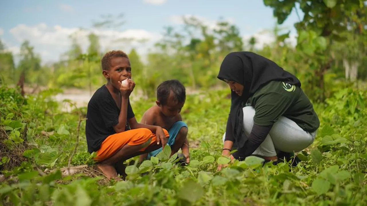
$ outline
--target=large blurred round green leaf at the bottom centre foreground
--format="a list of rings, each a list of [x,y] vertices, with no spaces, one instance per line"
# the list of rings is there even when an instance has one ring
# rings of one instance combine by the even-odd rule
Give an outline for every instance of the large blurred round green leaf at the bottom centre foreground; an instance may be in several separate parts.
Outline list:
[[[177,192],[180,199],[194,203],[204,195],[204,189],[192,179],[186,180]]]

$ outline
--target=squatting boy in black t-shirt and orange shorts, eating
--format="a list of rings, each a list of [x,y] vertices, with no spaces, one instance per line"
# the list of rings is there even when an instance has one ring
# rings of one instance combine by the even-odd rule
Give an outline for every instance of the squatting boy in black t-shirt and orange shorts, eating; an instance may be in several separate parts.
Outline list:
[[[117,178],[118,164],[164,147],[169,134],[160,126],[140,124],[135,119],[129,101],[135,82],[128,56],[123,51],[110,51],[101,64],[107,84],[97,89],[88,103],[86,137],[88,152],[97,152],[98,169],[111,179]]]

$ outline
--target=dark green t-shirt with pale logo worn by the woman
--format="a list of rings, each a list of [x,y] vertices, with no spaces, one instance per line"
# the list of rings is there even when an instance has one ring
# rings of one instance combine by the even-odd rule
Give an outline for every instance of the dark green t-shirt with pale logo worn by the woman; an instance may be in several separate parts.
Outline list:
[[[312,103],[300,87],[271,81],[248,99],[246,106],[255,108],[254,124],[274,124],[280,116],[287,117],[307,132],[320,126]]]

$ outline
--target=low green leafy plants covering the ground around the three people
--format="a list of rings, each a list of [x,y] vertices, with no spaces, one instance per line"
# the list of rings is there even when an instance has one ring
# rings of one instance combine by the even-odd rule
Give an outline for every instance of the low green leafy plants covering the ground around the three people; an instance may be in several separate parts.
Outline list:
[[[23,99],[14,88],[0,89],[1,146],[18,152],[1,154],[4,205],[367,204],[364,91],[339,89],[325,104],[315,104],[321,126],[315,142],[298,154],[303,161],[297,167],[262,166],[258,158],[249,157],[221,172],[218,162],[228,161],[221,157],[228,91],[190,95],[182,109],[189,125],[190,164],[177,166],[166,147],[157,158],[128,166],[127,180],[119,182],[106,181],[92,169],[62,175],[59,169],[69,162],[93,162],[84,135],[86,108],[61,112],[51,98],[57,92]],[[132,103],[138,121],[153,103]],[[14,161],[17,158],[26,161]]]

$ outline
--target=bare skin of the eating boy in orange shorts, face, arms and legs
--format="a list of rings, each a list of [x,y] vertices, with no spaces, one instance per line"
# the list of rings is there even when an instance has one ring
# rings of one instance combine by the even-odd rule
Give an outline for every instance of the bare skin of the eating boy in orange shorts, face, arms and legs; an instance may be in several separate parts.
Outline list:
[[[123,162],[126,159],[130,159],[146,152],[154,151],[159,147],[164,147],[167,143],[166,136],[164,135],[163,129],[160,126],[140,124],[137,122],[135,117],[127,119],[127,105],[128,99],[131,92],[134,90],[135,82],[131,80],[131,66],[128,58],[117,57],[110,60],[109,70],[103,70],[103,76],[107,79],[106,87],[111,93],[117,106],[121,109],[119,114],[119,123],[113,126],[116,133],[124,132],[126,121],[128,121],[131,129],[137,128],[148,128],[157,136],[157,144],[152,144],[145,151],[140,152],[144,147],[147,147],[150,143],[148,140],[146,143],[130,146],[126,144],[114,155],[98,163],[98,168],[105,174],[109,179],[116,178],[117,172],[115,164],[117,162]],[[127,79],[128,86],[123,87],[121,81]],[[160,145],[161,143],[161,145]]]

